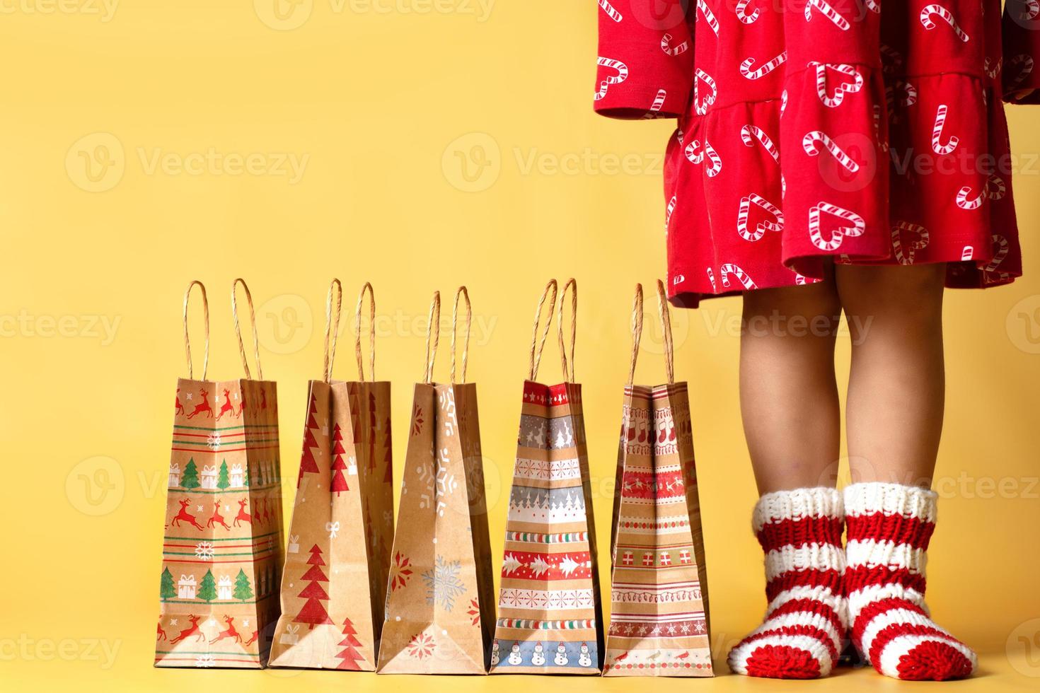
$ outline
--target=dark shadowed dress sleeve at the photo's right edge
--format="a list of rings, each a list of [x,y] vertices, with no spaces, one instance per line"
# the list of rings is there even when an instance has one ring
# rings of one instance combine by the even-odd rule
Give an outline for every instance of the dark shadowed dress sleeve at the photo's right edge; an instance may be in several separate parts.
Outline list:
[[[1004,100],[1040,104],[1040,0],[1008,0],[1002,26]]]

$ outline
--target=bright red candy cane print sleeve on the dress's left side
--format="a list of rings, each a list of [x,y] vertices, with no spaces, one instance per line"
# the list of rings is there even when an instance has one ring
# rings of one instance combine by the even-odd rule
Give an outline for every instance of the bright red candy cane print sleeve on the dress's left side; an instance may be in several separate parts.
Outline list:
[[[598,0],[597,113],[616,118],[677,117],[694,81],[692,0]]]

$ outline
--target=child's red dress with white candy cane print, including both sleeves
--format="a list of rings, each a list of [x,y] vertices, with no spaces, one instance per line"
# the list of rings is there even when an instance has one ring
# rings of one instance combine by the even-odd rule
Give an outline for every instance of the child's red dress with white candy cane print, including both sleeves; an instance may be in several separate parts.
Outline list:
[[[1040,0],[599,0],[596,111],[677,117],[681,305],[828,262],[1021,274],[1004,101],[1040,103]],[[1002,46],[1003,44],[1003,46]]]

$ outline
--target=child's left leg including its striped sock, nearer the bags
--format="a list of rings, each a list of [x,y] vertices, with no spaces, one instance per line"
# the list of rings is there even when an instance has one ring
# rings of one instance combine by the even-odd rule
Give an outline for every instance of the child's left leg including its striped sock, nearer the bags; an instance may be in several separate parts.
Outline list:
[[[758,489],[753,527],[765,552],[769,606],[729,655],[752,676],[830,673],[848,627],[841,495],[834,488],[839,412],[833,281],[744,298],[740,409]]]

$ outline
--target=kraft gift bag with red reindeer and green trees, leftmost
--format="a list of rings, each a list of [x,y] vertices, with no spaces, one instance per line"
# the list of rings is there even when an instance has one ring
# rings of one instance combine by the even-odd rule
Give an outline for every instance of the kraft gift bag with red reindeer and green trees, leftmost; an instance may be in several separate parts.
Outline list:
[[[245,289],[257,379],[245,359],[235,289]],[[202,292],[206,352],[193,379],[188,299]],[[264,380],[249,287],[235,279],[232,313],[245,378],[206,379],[209,306],[206,288],[192,282],[184,295],[188,377],[177,382],[166,491],[166,524],[159,579],[155,665],[260,668],[267,659],[265,629],[278,620],[282,574],[282,490],[278,399]]]

